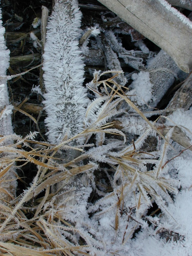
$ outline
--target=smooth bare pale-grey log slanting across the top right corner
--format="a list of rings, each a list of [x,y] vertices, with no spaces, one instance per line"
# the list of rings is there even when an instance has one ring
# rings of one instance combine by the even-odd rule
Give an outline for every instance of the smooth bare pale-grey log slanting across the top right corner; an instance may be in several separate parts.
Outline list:
[[[99,0],[142,35],[161,47],[184,72],[192,68],[192,33],[188,25],[160,2],[161,0]],[[168,3],[165,2],[167,5]]]

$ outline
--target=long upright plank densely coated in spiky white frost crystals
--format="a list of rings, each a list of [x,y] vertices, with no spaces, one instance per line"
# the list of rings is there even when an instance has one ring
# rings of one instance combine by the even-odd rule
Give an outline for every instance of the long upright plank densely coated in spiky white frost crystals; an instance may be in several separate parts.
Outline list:
[[[44,104],[48,115],[45,121],[47,134],[52,143],[61,142],[66,134],[71,137],[83,130],[89,100],[82,86],[84,65],[76,38],[80,18],[76,1],[68,4],[56,2],[47,25],[43,56]]]

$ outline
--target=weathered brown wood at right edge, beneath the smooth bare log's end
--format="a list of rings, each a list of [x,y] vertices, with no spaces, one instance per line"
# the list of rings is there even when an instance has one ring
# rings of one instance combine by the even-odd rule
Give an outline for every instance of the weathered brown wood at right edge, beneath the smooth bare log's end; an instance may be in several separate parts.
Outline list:
[[[192,105],[192,73],[185,79],[182,86],[176,91],[167,108],[183,108],[188,110]],[[168,113],[167,113],[168,114]]]

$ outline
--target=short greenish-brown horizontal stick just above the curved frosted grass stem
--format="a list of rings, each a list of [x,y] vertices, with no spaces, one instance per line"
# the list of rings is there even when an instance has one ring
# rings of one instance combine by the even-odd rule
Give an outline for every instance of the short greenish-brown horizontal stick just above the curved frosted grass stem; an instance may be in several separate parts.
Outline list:
[[[23,56],[15,56],[10,57],[10,66],[17,66],[17,67],[26,67],[30,65],[31,62],[35,61],[35,63],[38,63],[41,59],[41,54],[35,53],[35,54],[28,54]]]

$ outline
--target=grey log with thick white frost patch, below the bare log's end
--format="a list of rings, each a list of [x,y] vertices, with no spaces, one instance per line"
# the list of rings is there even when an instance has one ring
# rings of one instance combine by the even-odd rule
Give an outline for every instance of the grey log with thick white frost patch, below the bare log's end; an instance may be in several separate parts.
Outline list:
[[[161,50],[154,58],[147,62],[146,71],[133,74],[131,87],[132,97],[142,111],[155,108],[166,91],[182,72],[173,59]],[[183,72],[182,72],[183,73]]]

